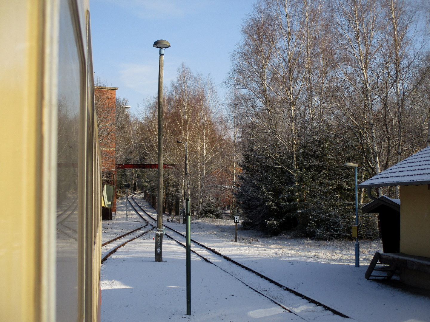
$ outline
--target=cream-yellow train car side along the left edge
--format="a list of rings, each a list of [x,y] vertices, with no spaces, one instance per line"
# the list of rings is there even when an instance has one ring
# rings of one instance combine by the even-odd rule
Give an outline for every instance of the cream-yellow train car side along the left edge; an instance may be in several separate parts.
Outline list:
[[[0,1],[0,321],[100,319],[89,1]]]

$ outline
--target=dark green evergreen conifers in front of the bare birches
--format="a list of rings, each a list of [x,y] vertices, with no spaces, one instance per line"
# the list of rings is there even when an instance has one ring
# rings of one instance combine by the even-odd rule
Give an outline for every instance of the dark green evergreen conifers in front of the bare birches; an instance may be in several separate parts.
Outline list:
[[[267,139],[264,145],[261,137],[244,139],[237,193],[246,217],[244,228],[269,235],[292,231],[295,236],[324,240],[350,237],[355,222],[354,179],[351,170],[342,165],[356,160],[354,149],[330,136],[303,140],[294,182],[288,171],[265,157]],[[359,212],[359,222],[363,238],[378,237],[375,215]]]

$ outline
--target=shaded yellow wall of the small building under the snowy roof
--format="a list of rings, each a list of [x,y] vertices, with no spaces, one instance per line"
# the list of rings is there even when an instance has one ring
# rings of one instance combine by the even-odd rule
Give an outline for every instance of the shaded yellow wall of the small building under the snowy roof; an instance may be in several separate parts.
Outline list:
[[[400,252],[430,257],[429,185],[400,186]]]

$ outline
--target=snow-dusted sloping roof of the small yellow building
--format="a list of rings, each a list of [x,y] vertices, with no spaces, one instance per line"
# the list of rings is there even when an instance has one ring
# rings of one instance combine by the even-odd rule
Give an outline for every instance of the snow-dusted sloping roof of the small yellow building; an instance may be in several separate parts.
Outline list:
[[[359,184],[361,188],[430,184],[430,146]]]

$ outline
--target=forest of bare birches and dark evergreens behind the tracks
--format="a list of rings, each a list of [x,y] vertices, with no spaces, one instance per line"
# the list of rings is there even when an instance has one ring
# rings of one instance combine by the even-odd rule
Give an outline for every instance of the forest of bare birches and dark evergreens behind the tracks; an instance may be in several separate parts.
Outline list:
[[[190,197],[192,213],[228,206],[269,235],[348,238],[359,182],[430,145],[430,3],[262,0],[241,26],[218,97],[210,76],[184,64],[164,89],[164,210]],[[96,79],[96,85],[104,85]],[[117,163],[157,163],[157,95],[130,115],[117,97]],[[103,136],[100,140],[103,142]],[[187,185],[184,144],[188,146]],[[117,188],[156,194],[157,173],[119,170]],[[399,187],[378,189],[399,198]],[[359,204],[369,200],[359,189]],[[359,213],[363,238],[377,216]]]

